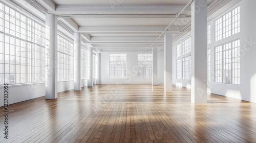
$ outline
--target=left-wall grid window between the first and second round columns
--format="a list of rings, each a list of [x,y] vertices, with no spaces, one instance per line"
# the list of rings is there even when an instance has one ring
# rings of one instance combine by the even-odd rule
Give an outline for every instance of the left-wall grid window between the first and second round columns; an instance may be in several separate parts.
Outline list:
[[[74,44],[58,35],[58,81],[74,79]]]

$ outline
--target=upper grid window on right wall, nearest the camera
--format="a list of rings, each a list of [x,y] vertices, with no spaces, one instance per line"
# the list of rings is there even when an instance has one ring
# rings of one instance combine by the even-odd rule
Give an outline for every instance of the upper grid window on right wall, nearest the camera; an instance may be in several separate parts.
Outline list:
[[[215,20],[215,40],[221,40],[240,32],[240,7],[234,8]]]

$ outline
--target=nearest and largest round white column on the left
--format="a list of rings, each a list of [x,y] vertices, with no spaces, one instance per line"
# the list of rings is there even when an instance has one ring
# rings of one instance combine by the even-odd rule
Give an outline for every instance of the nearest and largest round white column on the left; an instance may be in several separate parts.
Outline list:
[[[57,16],[46,15],[46,99],[57,98]]]

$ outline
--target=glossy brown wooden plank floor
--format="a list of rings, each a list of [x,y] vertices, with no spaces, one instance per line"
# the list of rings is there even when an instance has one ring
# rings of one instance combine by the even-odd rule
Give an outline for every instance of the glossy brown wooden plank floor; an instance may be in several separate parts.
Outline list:
[[[163,85],[96,85],[9,106],[0,142],[256,142],[256,104]],[[3,107],[0,112],[3,113]]]

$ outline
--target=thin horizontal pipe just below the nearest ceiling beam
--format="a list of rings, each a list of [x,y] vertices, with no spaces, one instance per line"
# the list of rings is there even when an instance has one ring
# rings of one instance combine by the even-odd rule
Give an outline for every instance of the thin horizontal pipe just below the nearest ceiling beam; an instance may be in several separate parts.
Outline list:
[[[176,18],[176,14],[62,14],[58,17],[152,17],[152,18]],[[181,14],[178,18],[191,17],[189,14]]]

